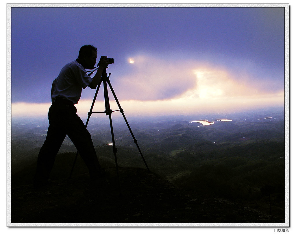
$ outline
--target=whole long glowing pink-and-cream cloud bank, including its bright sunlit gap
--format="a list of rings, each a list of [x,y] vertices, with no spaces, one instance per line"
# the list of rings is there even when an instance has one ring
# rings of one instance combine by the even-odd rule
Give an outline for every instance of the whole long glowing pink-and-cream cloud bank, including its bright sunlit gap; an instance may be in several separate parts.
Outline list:
[[[266,87],[276,86],[273,79],[234,73],[225,67],[199,61],[165,60],[149,56],[130,58],[130,73],[118,79],[118,96],[124,100],[229,99],[277,95]],[[118,89],[117,89],[118,90]]]

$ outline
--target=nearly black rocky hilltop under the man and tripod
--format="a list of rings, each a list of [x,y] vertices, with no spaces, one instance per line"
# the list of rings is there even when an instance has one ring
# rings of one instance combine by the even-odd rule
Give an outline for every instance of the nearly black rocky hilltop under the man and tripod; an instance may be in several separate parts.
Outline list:
[[[284,223],[222,198],[187,191],[140,168],[116,169],[109,179],[88,174],[53,181],[42,189],[12,187],[11,223]]]

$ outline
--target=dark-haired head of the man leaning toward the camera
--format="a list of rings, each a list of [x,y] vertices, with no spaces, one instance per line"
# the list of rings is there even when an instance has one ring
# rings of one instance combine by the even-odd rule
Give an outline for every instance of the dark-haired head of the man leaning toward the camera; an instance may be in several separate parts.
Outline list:
[[[86,69],[94,69],[97,58],[97,49],[93,45],[85,45],[80,48],[78,59]]]

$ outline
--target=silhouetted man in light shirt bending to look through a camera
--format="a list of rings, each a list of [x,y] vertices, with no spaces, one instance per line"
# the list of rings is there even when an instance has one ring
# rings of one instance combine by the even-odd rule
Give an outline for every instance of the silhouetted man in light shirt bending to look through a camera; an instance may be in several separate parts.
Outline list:
[[[81,47],[78,59],[66,64],[52,85],[52,105],[49,108],[49,127],[46,140],[40,149],[37,159],[34,187],[47,184],[54,160],[66,135],[73,142],[86,166],[91,179],[104,175],[91,135],[76,114],[75,104],[78,103],[82,88],[89,86],[96,89],[101,81],[102,72],[108,66],[108,59],[99,61],[99,68],[93,78],[86,74],[85,69],[94,69],[97,49],[92,45]]]

